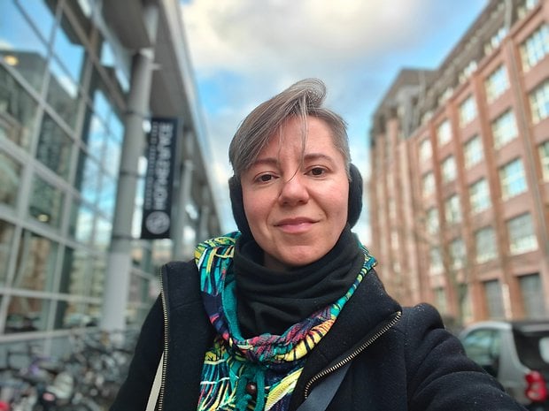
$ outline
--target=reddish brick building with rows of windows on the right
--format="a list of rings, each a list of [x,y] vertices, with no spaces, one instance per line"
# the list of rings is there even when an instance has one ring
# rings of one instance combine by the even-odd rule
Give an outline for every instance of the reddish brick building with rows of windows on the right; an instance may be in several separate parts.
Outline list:
[[[463,323],[546,316],[549,2],[491,0],[436,70],[398,74],[370,139],[390,292]]]

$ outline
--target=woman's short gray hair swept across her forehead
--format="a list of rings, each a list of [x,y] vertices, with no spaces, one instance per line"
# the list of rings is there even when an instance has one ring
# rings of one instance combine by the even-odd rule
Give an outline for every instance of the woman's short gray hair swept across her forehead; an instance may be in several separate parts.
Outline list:
[[[236,130],[228,148],[228,160],[236,177],[248,170],[271,138],[279,133],[282,124],[290,117],[302,118],[303,144],[307,116],[326,122],[332,134],[334,146],[344,156],[349,173],[351,153],[347,125],[334,111],[322,106],[326,97],[326,86],[318,79],[300,80],[282,93],[274,95],[251,111]]]

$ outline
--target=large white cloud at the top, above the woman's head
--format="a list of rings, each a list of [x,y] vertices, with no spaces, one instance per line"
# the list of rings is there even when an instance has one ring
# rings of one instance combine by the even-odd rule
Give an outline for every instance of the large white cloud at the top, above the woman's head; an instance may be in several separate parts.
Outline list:
[[[246,73],[341,69],[421,38],[428,0],[200,0],[183,5],[199,71]],[[279,74],[278,74],[279,75]]]

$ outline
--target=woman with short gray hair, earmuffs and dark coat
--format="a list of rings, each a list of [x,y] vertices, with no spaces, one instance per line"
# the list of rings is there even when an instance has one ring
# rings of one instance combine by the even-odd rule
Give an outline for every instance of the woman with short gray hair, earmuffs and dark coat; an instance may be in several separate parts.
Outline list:
[[[244,119],[229,148],[239,232],[163,268],[112,411],[144,409],[162,353],[165,411],[523,409],[435,308],[385,293],[351,232],[362,180],[325,91],[299,81]]]

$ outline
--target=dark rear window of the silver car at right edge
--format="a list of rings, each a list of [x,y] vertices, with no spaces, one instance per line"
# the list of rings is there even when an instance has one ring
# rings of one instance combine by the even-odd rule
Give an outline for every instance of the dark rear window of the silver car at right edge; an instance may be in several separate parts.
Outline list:
[[[530,369],[549,371],[549,330],[514,330],[516,352]]]

